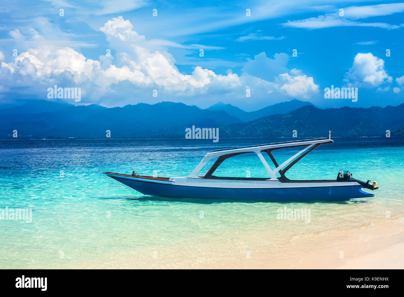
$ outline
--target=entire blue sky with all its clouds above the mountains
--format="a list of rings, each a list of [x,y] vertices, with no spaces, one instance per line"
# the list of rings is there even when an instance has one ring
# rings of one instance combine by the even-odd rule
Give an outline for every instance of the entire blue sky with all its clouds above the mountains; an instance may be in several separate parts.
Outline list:
[[[108,107],[404,103],[404,3],[330,3],[6,0],[0,102],[48,99],[56,84],[82,94],[56,100]],[[358,87],[358,101],[325,99],[331,85]]]

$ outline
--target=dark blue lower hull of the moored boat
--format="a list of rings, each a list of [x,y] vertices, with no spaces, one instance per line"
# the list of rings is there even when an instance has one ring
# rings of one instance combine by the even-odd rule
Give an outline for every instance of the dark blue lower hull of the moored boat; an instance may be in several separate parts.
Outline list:
[[[374,196],[373,194],[362,191],[361,185],[282,188],[226,188],[156,183],[151,181],[125,179],[111,175],[110,177],[142,194],[170,198],[251,199],[272,201],[341,201]]]

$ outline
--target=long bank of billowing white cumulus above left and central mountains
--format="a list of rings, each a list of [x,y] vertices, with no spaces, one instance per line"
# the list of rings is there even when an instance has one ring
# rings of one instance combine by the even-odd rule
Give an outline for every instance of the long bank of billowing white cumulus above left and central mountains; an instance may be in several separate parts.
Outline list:
[[[171,98],[209,94],[209,98],[225,95],[244,100],[246,88],[249,88],[257,101],[266,100],[268,94],[274,93],[284,100],[285,96],[308,98],[318,92],[312,77],[295,69],[289,72],[285,53],[269,59],[263,52],[248,59],[240,76],[231,71],[217,74],[200,66],[194,67],[191,74],[184,74],[178,70],[170,53],[154,50],[150,40],[133,30],[130,21],[113,18],[100,31],[116,50],[115,57],[102,55],[99,60],[87,59],[69,46],[51,46],[44,42],[44,45],[27,48],[9,63],[2,62],[0,78],[7,82],[9,91],[25,87],[32,93],[39,92],[42,98],[46,89],[54,84],[81,87],[82,98],[87,102],[103,96],[127,98],[128,90],[131,95],[143,94],[144,98],[144,94],[151,94],[154,88]],[[31,32],[42,40],[44,37],[37,33]],[[18,29],[11,35],[17,41],[27,40]]]

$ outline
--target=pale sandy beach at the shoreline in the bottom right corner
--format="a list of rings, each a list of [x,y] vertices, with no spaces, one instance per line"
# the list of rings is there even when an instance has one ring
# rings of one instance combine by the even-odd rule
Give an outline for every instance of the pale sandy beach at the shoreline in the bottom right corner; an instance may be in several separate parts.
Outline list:
[[[299,242],[296,238],[296,242]],[[396,219],[363,227],[331,231],[271,249],[264,258],[229,268],[280,269],[403,269],[404,222]],[[268,259],[269,258],[269,259]]]

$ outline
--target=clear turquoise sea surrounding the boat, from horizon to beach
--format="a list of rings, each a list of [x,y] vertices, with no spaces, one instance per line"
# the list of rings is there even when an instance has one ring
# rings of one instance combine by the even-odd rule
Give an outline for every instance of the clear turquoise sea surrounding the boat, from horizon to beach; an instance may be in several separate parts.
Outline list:
[[[0,220],[0,268],[206,267],[223,257],[243,259],[264,246],[290,244],[296,236],[400,220],[404,139],[334,140],[287,176],[335,179],[340,169],[349,169],[355,178],[377,181],[374,198],[307,203],[153,198],[102,174],[186,176],[209,150],[280,139],[0,141],[0,209],[32,209],[31,223]],[[265,174],[254,162],[237,162],[242,176]],[[277,219],[284,206],[310,209],[310,222]]]

